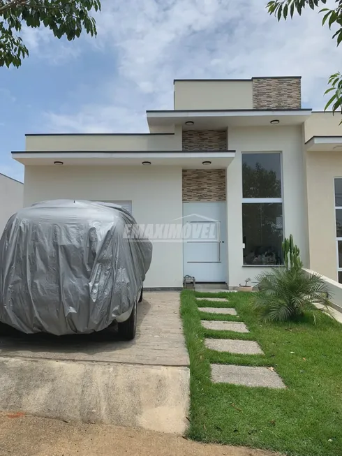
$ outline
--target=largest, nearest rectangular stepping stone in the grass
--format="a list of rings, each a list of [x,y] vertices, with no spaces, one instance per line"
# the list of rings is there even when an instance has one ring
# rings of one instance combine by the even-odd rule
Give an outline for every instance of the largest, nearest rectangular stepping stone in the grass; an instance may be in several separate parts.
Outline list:
[[[214,383],[285,388],[280,376],[276,372],[267,369],[267,367],[212,364],[211,379]]]

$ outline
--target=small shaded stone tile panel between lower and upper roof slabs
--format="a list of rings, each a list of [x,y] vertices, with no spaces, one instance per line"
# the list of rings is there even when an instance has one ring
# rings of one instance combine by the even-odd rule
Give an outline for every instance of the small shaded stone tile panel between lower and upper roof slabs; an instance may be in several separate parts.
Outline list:
[[[227,150],[227,130],[184,130],[183,150]]]

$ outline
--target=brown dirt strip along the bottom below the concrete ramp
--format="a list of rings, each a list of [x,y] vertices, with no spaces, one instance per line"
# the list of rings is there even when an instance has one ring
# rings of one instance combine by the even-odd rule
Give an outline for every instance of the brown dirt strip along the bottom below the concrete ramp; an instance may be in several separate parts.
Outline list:
[[[0,456],[271,456],[158,432],[0,413]]]

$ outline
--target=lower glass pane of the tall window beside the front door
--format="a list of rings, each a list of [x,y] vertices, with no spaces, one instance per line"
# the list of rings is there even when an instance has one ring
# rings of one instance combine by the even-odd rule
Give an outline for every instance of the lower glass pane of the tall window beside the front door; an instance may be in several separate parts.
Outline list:
[[[283,242],[282,203],[242,205],[244,265],[280,265]]]

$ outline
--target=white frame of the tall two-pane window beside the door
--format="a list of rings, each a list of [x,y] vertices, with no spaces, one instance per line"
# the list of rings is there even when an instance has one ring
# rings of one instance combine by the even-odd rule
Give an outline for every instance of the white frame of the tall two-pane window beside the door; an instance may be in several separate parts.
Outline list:
[[[278,154],[280,156],[280,175],[281,175],[281,198],[244,198],[244,178],[242,175],[242,165],[243,165],[243,156],[246,154]],[[285,239],[285,223],[284,223],[284,190],[283,190],[283,185],[284,185],[284,179],[283,179],[283,153],[281,151],[276,151],[276,150],[270,150],[270,151],[248,151],[248,152],[241,152],[241,194],[242,194],[242,203],[241,203],[241,216],[243,214],[243,205],[246,203],[266,203],[266,204],[272,204],[272,203],[281,203],[281,214],[283,218],[283,240]],[[342,209],[342,207],[341,207]],[[244,246],[244,221],[241,219],[241,226],[242,226],[242,246]],[[342,240],[342,238],[341,238]],[[281,265],[245,265],[244,264],[244,249],[246,247],[242,247],[242,266],[243,267],[281,267]],[[342,272],[342,269],[341,269]]]

